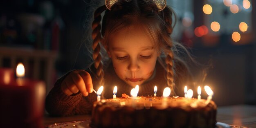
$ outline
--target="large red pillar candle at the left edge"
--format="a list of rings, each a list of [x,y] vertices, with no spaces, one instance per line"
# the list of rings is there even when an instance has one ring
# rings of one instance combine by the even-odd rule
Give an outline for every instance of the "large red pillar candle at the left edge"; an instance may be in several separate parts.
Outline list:
[[[20,78],[20,84],[17,80],[13,79],[9,84],[0,83],[0,124],[3,128],[41,128],[45,83]]]

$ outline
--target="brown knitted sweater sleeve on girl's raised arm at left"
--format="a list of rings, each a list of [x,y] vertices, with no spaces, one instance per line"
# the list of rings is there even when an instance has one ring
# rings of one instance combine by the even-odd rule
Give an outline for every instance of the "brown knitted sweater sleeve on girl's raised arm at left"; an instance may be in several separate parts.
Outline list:
[[[96,94],[89,94],[88,97],[83,97],[80,92],[67,95],[61,90],[61,83],[69,73],[56,81],[46,97],[45,108],[52,116],[60,117],[91,113],[92,103],[96,100]]]

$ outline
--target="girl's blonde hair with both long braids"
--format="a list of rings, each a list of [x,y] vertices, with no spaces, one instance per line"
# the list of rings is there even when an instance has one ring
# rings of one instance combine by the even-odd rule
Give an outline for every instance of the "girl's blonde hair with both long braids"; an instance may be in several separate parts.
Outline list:
[[[108,45],[109,37],[120,29],[130,27],[132,25],[139,26],[145,30],[150,39],[153,41],[155,49],[164,54],[166,64],[167,85],[174,92],[174,58],[175,46],[184,48],[179,43],[173,43],[171,34],[173,31],[173,11],[169,7],[158,11],[156,5],[150,0],[119,0],[110,10],[106,10],[103,5],[94,12],[94,21],[92,22],[92,49],[94,67],[97,69],[99,83],[104,84],[103,64],[101,62],[100,42],[102,45]],[[105,11],[101,27],[101,13]],[[102,38],[103,37],[103,38]],[[185,48],[184,48],[185,49]],[[179,58],[177,58],[179,59]]]

